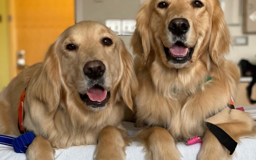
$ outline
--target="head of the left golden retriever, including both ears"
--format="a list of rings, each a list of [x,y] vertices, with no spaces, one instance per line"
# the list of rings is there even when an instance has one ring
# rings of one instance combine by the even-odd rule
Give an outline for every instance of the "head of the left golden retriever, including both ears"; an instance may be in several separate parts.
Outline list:
[[[121,98],[132,109],[131,96],[138,85],[132,57],[122,40],[110,28],[92,21],[77,23],[59,36],[40,76],[48,82],[41,88],[48,96],[41,99],[55,102],[52,106],[58,106],[60,99],[75,101],[94,111]]]

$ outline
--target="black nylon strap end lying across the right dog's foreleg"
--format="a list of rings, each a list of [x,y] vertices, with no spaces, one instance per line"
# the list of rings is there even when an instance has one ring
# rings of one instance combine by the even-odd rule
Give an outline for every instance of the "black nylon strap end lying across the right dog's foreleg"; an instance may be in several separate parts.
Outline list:
[[[223,129],[219,128],[218,126],[209,122],[206,122],[206,126],[215,135],[219,142],[230,151],[229,154],[232,155],[238,143],[235,142],[233,138],[231,138]]]

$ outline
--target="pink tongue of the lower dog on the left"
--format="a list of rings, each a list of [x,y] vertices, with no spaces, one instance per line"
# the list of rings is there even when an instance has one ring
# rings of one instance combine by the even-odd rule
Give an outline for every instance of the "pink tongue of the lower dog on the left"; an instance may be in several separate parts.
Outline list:
[[[105,100],[107,96],[107,91],[101,88],[92,87],[89,91],[86,92],[86,94],[88,95],[91,101],[101,102]]]

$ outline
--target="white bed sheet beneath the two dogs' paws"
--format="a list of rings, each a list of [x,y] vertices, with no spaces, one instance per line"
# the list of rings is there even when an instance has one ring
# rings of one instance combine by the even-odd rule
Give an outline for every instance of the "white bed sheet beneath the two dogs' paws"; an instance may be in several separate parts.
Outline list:
[[[133,123],[123,122],[129,135],[135,134],[140,128],[135,128]],[[177,148],[182,154],[182,160],[196,160],[201,143],[191,146],[184,142],[177,143]],[[55,153],[56,160],[93,160],[96,145],[72,146],[67,149],[58,149]],[[145,160],[145,152],[138,142],[132,142],[126,148],[127,160]],[[256,160],[256,139],[241,139],[233,156],[234,160]],[[12,147],[0,145],[0,160],[26,160],[26,155],[15,153]]]

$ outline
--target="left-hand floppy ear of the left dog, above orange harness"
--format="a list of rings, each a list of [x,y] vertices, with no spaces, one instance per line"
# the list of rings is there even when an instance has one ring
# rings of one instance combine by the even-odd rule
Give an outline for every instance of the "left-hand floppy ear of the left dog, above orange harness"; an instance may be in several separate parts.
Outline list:
[[[41,68],[33,76],[28,86],[29,105],[44,107],[46,112],[54,112],[60,101],[60,71],[56,45],[53,43]]]

